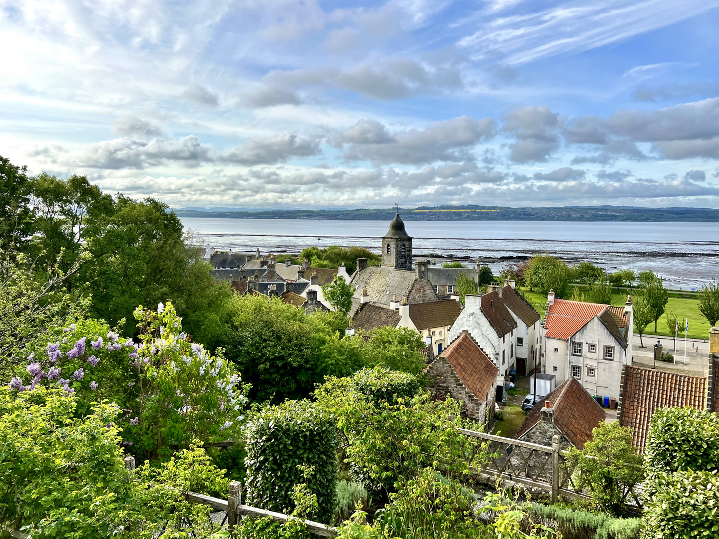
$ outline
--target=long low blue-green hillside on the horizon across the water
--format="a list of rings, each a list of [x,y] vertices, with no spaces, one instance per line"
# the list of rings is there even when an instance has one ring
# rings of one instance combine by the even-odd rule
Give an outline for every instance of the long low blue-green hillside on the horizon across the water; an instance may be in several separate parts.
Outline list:
[[[218,208],[219,210],[219,208]],[[388,221],[395,208],[357,210],[174,210],[180,217],[250,219],[328,219]],[[502,206],[420,206],[401,208],[408,221],[706,221],[719,222],[719,210],[710,208],[627,208],[567,206],[562,208],[505,208]]]

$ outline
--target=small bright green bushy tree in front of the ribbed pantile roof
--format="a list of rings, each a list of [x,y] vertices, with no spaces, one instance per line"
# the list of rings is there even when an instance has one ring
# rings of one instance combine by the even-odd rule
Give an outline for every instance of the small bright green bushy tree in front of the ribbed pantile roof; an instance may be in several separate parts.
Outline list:
[[[631,428],[602,423],[580,451],[569,449],[577,465],[577,487],[589,487],[597,509],[622,515],[625,493],[644,479],[641,456],[632,446]]]

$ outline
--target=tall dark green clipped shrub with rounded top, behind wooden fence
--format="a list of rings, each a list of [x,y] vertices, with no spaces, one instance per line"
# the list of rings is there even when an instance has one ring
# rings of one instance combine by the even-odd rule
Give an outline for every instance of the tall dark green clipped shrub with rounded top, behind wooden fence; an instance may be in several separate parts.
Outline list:
[[[291,494],[303,483],[298,466],[313,466],[308,488],[316,495],[317,518],[329,522],[336,498],[337,433],[334,416],[308,401],[263,409],[247,425],[247,503],[290,512]]]

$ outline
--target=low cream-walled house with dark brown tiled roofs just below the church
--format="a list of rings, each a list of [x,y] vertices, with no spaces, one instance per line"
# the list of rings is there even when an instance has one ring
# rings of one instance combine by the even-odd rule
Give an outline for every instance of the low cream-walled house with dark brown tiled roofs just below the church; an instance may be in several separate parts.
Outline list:
[[[410,328],[425,338],[432,354],[439,355],[449,343],[449,328],[457,320],[462,307],[456,300],[438,300],[409,305],[396,295],[386,306],[362,303],[352,317],[351,327],[370,332],[378,327]]]

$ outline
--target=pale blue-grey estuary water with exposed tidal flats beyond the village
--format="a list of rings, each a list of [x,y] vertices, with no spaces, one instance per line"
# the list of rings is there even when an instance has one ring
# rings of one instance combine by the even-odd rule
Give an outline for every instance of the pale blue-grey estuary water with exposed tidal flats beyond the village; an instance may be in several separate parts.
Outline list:
[[[181,218],[216,249],[297,253],[305,247],[366,247],[379,254],[385,221]],[[615,271],[652,270],[665,286],[692,290],[719,277],[717,223],[618,221],[405,221],[415,255],[470,257],[493,271],[546,252]],[[439,263],[439,262],[438,262]]]

